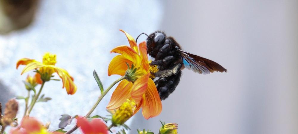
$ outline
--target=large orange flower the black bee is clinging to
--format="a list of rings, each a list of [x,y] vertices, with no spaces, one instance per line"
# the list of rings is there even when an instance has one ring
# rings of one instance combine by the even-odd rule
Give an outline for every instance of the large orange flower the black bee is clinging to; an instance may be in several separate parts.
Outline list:
[[[129,69],[126,63],[134,65],[137,68],[135,72],[137,79],[135,81],[122,80],[115,91],[112,94],[111,100],[107,106],[107,109],[118,109],[122,103],[127,99],[134,100],[136,102],[136,110],[134,114],[138,112],[142,107],[142,113],[145,119],[159,115],[162,111],[162,103],[159,98],[159,94],[156,89],[156,85],[153,80],[149,78],[149,63],[146,51],[146,43],[139,44],[139,48],[136,45],[136,41],[131,35],[123,30],[125,33],[129,46],[118,46],[111,50],[111,52],[119,53],[121,55],[115,56],[108,67],[108,75],[119,74],[126,76],[125,73]],[[133,83],[134,82],[134,83]]]

